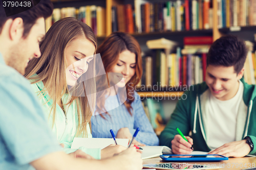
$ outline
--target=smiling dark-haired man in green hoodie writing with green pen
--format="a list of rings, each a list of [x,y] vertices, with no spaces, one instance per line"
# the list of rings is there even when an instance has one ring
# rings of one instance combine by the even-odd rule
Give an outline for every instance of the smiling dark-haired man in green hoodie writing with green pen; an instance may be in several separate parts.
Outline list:
[[[160,135],[161,145],[175,154],[190,154],[193,145],[195,151],[227,157],[256,155],[256,89],[242,79],[246,56],[245,42],[231,35],[211,45],[205,82],[184,93],[187,99],[178,102]]]

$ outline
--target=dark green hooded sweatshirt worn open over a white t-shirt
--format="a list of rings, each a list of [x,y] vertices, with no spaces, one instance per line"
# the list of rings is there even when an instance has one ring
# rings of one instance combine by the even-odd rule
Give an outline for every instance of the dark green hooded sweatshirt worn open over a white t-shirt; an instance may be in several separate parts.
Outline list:
[[[256,89],[255,85],[248,85],[243,79],[241,82],[244,85],[244,91],[237,116],[236,141],[249,136],[254,145],[249,154],[256,155]],[[178,127],[185,136],[192,131],[195,151],[210,151],[207,145],[207,109],[205,108],[209,93],[210,90],[205,82],[190,86],[189,90],[184,92],[183,99],[177,103],[169,122],[159,137],[160,145],[172,148],[171,141],[178,134],[176,130]]]

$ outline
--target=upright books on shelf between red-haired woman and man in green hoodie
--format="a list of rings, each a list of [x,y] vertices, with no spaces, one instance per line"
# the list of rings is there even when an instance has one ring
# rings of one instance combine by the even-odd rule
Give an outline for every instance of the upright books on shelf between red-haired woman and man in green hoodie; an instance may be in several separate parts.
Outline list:
[[[158,84],[162,87],[193,85],[205,80],[206,54],[179,56],[177,53],[166,54],[157,50],[156,65],[152,57],[145,57],[145,76],[142,85]],[[167,64],[166,64],[167,63]],[[153,67],[156,67],[156,82],[153,82]],[[143,80],[144,79],[144,80]]]

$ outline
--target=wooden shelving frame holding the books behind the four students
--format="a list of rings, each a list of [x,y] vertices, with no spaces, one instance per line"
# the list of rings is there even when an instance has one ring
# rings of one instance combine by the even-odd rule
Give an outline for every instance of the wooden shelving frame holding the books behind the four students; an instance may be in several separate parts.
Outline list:
[[[79,8],[81,6],[101,6],[105,8],[105,35],[103,36],[97,36],[98,43],[100,44],[103,39],[110,35],[112,33],[112,7],[118,6],[118,5],[127,5],[132,4],[134,7],[135,3],[134,0],[51,0],[54,4],[54,8],[63,8],[63,7],[75,7]],[[182,3],[184,3],[185,0],[182,0]],[[200,0],[197,0],[200,1]],[[202,0],[206,1],[206,0]],[[189,30],[189,31],[156,31],[156,32],[142,32],[142,33],[132,33],[131,35],[134,36],[138,42],[141,45],[141,50],[144,52],[144,54],[148,54],[151,52],[148,52],[148,48],[146,47],[145,43],[147,40],[150,39],[158,39],[161,37],[164,37],[166,39],[171,39],[174,41],[177,41],[180,46],[183,46],[183,37],[186,36],[211,36],[213,41],[220,38],[224,34],[234,34],[238,35],[240,38],[250,37],[250,40],[253,41],[252,34],[256,33],[256,26],[249,26],[249,27],[230,27],[230,28],[221,28],[219,29],[219,16],[218,16],[218,10],[219,10],[219,0],[210,0],[211,1],[211,8],[212,8],[212,27],[210,29],[197,29],[197,30]],[[224,0],[223,0],[224,1]],[[232,0],[230,0],[232,1]],[[233,0],[235,1],[235,0]],[[248,0],[237,0],[237,1],[248,1]],[[158,3],[158,2],[164,2],[167,1],[158,1],[158,0],[147,0],[147,2],[150,3]],[[176,0],[172,1],[176,2]],[[135,18],[134,18],[135,19]],[[249,32],[249,33],[248,33]],[[249,39],[249,38],[247,38]],[[165,93],[164,93],[165,92]],[[161,94],[161,95],[182,95],[182,91],[140,91],[138,90],[138,93],[141,96],[154,96],[155,94]]]

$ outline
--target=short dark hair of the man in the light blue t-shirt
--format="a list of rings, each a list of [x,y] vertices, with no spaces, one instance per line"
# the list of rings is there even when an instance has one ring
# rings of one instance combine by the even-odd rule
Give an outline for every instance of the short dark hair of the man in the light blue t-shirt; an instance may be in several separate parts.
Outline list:
[[[19,1],[18,1],[19,2]],[[23,2],[23,1],[20,1]],[[36,2],[36,1],[33,1]],[[37,0],[37,2],[39,2]],[[24,24],[24,32],[23,37],[27,37],[31,28],[35,24],[36,20],[40,17],[47,18],[51,16],[53,12],[53,4],[50,0],[41,0],[37,5],[31,9],[28,8],[28,10],[24,11],[24,8],[19,7],[3,7],[2,1],[0,1],[0,34],[2,32],[2,29],[5,25],[5,22],[8,19],[15,19],[17,17],[20,17],[23,19]],[[24,11],[24,12],[22,12]],[[20,13],[19,13],[20,12]],[[13,14],[13,15],[11,15]],[[8,16],[8,17],[7,17]]]

